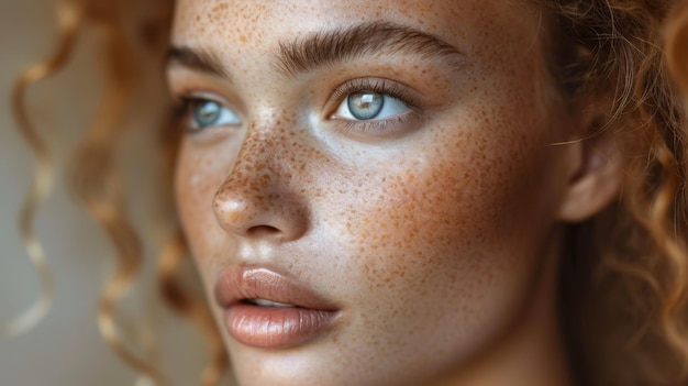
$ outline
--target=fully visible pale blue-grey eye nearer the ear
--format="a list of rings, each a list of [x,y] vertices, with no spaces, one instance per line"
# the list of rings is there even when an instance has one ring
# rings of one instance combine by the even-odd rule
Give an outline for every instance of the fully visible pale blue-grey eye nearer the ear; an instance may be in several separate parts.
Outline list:
[[[352,121],[382,120],[411,111],[404,102],[375,91],[354,91],[342,101],[334,118]]]

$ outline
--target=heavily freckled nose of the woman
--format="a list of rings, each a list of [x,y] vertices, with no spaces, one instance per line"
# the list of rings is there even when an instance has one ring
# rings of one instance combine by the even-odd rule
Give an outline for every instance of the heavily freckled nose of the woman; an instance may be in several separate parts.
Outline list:
[[[246,134],[231,173],[215,192],[220,225],[244,239],[288,242],[308,230],[308,206],[297,186],[300,161],[286,139],[268,132]],[[302,158],[302,157],[301,157]],[[301,168],[302,169],[302,168]]]

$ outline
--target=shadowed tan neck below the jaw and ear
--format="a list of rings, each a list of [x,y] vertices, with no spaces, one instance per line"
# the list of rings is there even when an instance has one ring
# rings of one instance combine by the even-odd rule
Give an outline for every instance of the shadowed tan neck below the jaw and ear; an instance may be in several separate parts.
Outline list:
[[[530,308],[511,332],[459,378],[441,386],[573,386],[557,311],[557,253],[546,258]]]

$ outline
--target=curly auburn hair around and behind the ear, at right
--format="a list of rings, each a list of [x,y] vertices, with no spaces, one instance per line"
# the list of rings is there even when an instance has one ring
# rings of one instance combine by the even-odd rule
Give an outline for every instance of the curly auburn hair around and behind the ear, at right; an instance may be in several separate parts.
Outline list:
[[[602,129],[625,172],[619,205],[573,228],[563,313],[577,374],[586,385],[685,385],[688,142],[668,67],[686,52],[665,59],[662,33],[676,1],[543,2],[573,43],[555,76],[573,98],[612,96]]]

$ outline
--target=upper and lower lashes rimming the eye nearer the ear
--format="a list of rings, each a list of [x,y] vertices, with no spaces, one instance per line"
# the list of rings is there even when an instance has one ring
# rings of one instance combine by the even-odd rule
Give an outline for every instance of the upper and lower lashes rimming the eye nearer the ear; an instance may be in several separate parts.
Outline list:
[[[382,78],[356,78],[345,81],[340,85],[332,92],[332,100],[334,106],[337,107],[353,92],[371,91],[375,93],[388,96],[403,102],[411,111],[410,113],[403,113],[398,117],[367,120],[367,121],[352,121],[346,119],[333,119],[334,112],[329,113],[331,121],[336,121],[339,124],[337,130],[345,134],[363,134],[370,136],[381,136],[390,131],[393,131],[393,126],[406,123],[412,113],[420,113],[421,109],[415,102],[415,99],[398,82]]]

